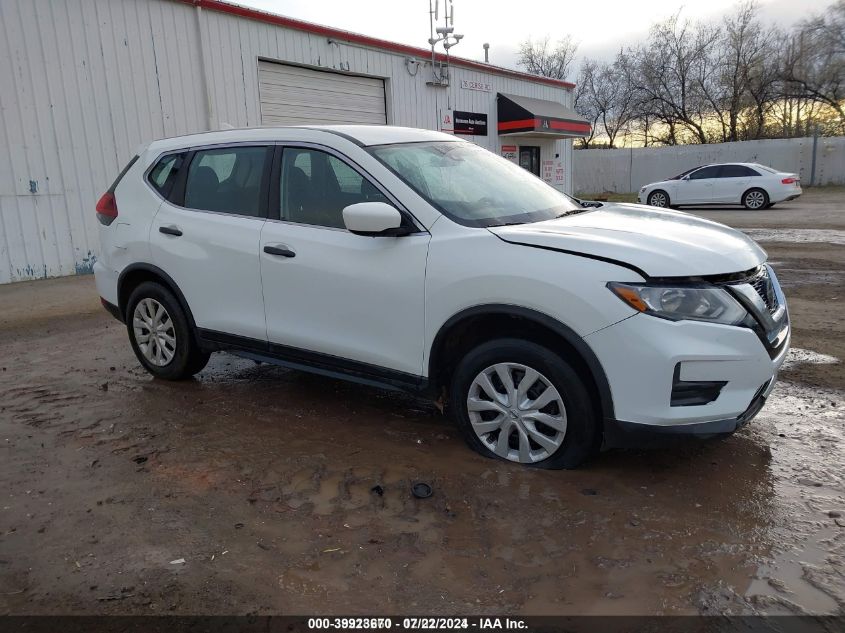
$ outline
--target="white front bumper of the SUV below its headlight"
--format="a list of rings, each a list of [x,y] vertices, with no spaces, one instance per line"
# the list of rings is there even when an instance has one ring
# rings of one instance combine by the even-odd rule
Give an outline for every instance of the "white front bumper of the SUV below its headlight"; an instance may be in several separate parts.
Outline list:
[[[607,440],[639,432],[735,431],[763,406],[789,349],[788,332],[770,353],[748,328],[667,321],[646,314],[636,314],[585,340],[605,370],[613,398],[615,420],[605,421]],[[678,376],[724,386],[707,404],[672,406],[672,386]]]

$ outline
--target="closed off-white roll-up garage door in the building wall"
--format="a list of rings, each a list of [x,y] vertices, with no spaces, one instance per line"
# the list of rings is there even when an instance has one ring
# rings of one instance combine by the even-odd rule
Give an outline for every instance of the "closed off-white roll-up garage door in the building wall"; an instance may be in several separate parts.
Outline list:
[[[387,123],[383,79],[259,61],[258,95],[265,125]]]

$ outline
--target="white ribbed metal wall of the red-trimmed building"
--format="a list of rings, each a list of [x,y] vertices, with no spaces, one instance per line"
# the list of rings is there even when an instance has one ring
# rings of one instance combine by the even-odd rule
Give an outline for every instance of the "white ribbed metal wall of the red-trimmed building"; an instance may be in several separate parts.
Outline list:
[[[90,272],[94,205],[141,143],[260,125],[259,57],[385,78],[394,125],[486,112],[488,136],[472,140],[493,151],[497,92],[571,106],[564,87],[459,66],[449,88],[427,86],[406,56],[172,0],[0,0],[0,283]],[[568,169],[571,146],[544,158]]]

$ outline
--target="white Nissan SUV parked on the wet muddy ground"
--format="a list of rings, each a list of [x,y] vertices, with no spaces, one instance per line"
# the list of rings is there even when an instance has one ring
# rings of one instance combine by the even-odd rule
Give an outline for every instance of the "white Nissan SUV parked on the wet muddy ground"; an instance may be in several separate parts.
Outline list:
[[[218,350],[447,404],[480,453],[573,467],[638,431],[730,433],[789,346],[730,228],[585,208],[426,130],[156,141],[97,205],[104,306],[154,376]]]

